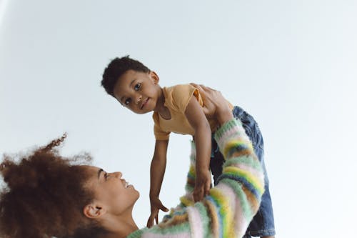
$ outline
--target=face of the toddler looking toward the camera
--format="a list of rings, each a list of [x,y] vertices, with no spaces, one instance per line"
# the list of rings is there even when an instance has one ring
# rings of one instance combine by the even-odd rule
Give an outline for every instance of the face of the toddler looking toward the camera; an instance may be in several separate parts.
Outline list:
[[[131,111],[144,114],[156,109],[161,91],[158,83],[159,76],[154,71],[145,73],[130,69],[116,82],[114,96]]]

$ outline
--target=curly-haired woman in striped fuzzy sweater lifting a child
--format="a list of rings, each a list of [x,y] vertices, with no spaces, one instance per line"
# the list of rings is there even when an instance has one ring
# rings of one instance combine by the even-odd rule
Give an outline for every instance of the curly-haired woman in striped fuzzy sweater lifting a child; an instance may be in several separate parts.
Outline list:
[[[7,187],[0,200],[1,237],[242,237],[259,207],[263,172],[251,142],[218,91],[198,86],[206,115],[217,116],[216,141],[226,158],[217,186],[193,204],[195,148],[181,204],[150,229],[139,229],[132,210],[139,192],[120,172],[83,165],[88,156],[64,158],[54,147],[19,163],[5,157]],[[73,165],[73,163],[82,165]]]

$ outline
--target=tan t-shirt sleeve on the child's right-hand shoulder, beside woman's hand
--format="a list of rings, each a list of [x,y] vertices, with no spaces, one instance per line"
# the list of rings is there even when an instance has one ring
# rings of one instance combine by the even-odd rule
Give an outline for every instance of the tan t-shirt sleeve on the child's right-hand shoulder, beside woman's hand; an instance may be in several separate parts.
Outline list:
[[[198,89],[191,84],[178,84],[170,87],[167,90],[166,101],[168,104],[171,104],[169,106],[184,114],[192,96],[195,96],[198,103],[203,106],[201,94]]]

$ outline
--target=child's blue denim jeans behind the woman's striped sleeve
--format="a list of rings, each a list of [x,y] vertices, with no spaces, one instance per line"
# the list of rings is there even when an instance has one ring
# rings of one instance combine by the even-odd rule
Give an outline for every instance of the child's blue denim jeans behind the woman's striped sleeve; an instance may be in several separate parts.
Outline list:
[[[234,106],[233,116],[237,119],[240,119],[243,128],[246,131],[249,139],[253,144],[254,152],[258,157],[264,172],[264,182],[265,182],[265,192],[261,198],[261,206],[259,207],[258,212],[253,217],[251,224],[249,224],[248,229],[244,238],[253,237],[264,237],[264,236],[273,236],[275,235],[274,227],[274,216],[273,216],[273,206],[271,204],[271,197],[269,192],[269,180],[268,174],[266,174],[266,166],[264,164],[264,142],[261,135],[261,131],[258,127],[258,124],[253,119],[253,116],[249,115],[241,109],[239,106]],[[224,159],[223,155],[219,151],[216,140],[213,139],[212,135],[212,152],[211,152],[211,162],[209,164],[211,172],[213,174],[214,185],[218,183],[218,177],[222,174],[222,165]]]

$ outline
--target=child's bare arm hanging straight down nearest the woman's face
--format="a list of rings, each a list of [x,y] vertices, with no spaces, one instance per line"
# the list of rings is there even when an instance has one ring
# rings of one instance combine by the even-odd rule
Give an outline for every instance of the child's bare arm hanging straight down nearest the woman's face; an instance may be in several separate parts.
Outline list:
[[[159,221],[159,209],[168,212],[169,209],[164,207],[159,199],[162,180],[164,179],[166,168],[166,152],[169,140],[156,140],[154,157],[151,160],[150,167],[150,205],[151,214],[146,224],[147,227],[152,227],[154,219],[156,224]]]

